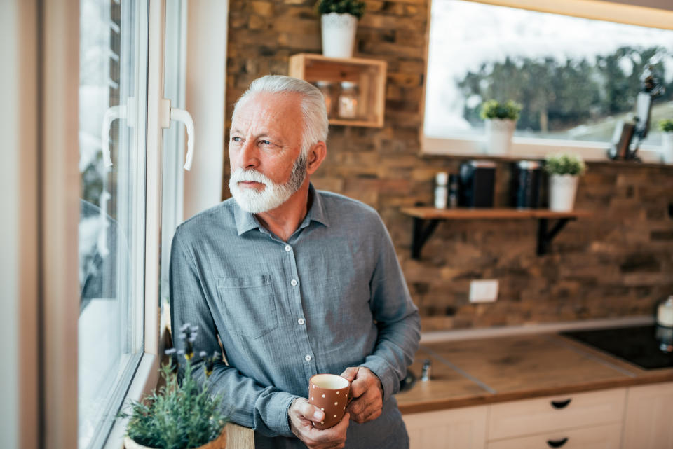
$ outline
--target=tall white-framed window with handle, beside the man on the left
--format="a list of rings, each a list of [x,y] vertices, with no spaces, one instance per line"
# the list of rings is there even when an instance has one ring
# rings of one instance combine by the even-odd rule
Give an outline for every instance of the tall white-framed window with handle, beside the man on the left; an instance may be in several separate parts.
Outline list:
[[[110,444],[132,383],[156,380],[184,162],[184,126],[161,130],[158,105],[184,104],[185,7],[80,0],[79,449]]]

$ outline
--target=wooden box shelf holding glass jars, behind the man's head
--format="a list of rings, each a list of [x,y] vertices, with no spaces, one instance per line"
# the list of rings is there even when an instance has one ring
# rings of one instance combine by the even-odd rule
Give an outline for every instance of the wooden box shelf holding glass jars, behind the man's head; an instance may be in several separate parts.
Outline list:
[[[358,115],[354,119],[330,116],[331,125],[383,127],[386,106],[386,67],[380,60],[362,58],[340,59],[314,53],[290,57],[289,74],[309,83],[328,81],[338,85],[350,81],[358,85]],[[339,92],[334,92],[334,102]],[[337,109],[337,108],[334,108]]]

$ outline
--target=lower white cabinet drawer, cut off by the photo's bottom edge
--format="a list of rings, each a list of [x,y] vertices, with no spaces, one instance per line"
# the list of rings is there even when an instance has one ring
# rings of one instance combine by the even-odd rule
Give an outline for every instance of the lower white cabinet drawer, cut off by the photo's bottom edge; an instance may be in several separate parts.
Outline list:
[[[620,424],[606,424],[489,441],[487,449],[615,449],[620,447],[620,434]]]

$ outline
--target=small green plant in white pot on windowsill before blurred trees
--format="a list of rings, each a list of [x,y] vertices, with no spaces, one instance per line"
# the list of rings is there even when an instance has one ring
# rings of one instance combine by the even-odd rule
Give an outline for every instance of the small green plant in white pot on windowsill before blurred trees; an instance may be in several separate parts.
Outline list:
[[[505,155],[510,152],[512,136],[521,113],[521,105],[494,99],[482,104],[481,117],[486,120],[486,153]]]

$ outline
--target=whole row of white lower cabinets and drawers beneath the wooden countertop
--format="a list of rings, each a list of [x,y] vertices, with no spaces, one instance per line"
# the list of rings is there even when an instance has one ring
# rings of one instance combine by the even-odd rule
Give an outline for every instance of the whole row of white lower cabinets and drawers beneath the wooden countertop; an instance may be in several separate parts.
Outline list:
[[[673,382],[402,417],[411,449],[673,449]]]

